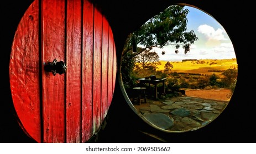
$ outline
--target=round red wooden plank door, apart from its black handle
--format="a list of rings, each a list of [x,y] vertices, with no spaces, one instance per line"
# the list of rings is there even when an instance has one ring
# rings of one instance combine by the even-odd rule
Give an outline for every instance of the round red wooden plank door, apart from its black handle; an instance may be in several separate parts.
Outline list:
[[[45,71],[63,61],[66,73]],[[88,0],[35,0],[15,32],[9,77],[20,126],[37,142],[86,142],[111,105],[116,49]]]

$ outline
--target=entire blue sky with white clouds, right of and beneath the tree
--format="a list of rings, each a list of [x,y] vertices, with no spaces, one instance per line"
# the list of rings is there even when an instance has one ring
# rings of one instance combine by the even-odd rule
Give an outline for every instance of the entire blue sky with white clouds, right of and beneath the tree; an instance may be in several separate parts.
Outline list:
[[[159,54],[160,60],[170,59],[231,59],[236,58],[234,48],[228,34],[218,21],[203,10],[188,7],[190,12],[187,15],[187,31],[194,30],[198,40],[191,45],[190,51],[184,54],[184,49],[179,48],[175,53],[174,46],[154,48]],[[165,51],[164,56],[161,54]]]

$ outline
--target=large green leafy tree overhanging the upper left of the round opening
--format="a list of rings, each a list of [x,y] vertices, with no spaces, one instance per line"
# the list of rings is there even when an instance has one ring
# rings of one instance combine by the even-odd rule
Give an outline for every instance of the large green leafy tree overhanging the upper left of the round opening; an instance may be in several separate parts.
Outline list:
[[[135,59],[137,55],[146,50],[150,51],[153,47],[163,48],[166,45],[173,45],[175,53],[178,53],[182,46],[185,54],[189,52],[191,44],[197,41],[198,37],[194,30],[187,31],[188,13],[189,10],[184,9],[184,6],[170,5],[130,33],[123,48],[122,68],[134,68],[135,64],[130,63],[137,62]],[[123,80],[132,74],[133,68],[127,68],[125,72],[121,69]]]

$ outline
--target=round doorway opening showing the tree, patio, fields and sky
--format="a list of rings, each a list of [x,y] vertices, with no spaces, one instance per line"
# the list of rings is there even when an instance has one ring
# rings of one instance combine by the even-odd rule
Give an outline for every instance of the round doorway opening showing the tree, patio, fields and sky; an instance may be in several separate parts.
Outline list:
[[[121,87],[151,127],[181,133],[205,127],[224,111],[237,66],[218,21],[194,6],[170,5],[127,37]]]

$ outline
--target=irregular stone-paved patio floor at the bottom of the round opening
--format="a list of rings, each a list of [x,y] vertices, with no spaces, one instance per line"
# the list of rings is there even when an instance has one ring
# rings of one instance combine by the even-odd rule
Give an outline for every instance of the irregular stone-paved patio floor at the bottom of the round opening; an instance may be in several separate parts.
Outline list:
[[[150,103],[149,103],[150,102]],[[135,106],[146,119],[159,128],[170,131],[197,130],[216,119],[228,101],[216,101],[185,95],[149,100],[147,106]]]

